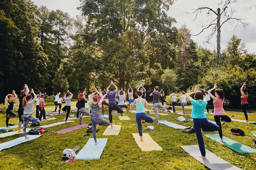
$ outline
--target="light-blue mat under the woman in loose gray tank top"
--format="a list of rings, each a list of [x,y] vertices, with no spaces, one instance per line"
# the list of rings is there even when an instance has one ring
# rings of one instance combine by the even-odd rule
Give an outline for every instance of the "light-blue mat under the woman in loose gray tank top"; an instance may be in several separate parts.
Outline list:
[[[107,144],[108,138],[97,138],[98,145],[95,145],[93,138],[89,138],[85,146],[79,151],[75,159],[93,160],[100,159],[103,149]]]

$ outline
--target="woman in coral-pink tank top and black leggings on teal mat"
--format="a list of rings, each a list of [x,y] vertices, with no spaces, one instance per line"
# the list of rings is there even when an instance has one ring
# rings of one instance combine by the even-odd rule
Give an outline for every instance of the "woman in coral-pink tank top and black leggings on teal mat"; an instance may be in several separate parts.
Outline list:
[[[211,91],[215,90],[215,96],[211,94]],[[223,142],[223,136],[222,136],[222,129],[221,129],[221,120],[225,122],[231,122],[230,117],[228,117],[225,114],[225,111],[223,109],[223,103],[224,103],[224,92],[222,89],[217,89],[217,84],[214,84],[214,87],[211,90],[208,90],[207,92],[210,97],[213,99],[213,106],[214,106],[214,120],[216,124],[220,127],[219,129],[219,135],[220,139],[219,141]]]

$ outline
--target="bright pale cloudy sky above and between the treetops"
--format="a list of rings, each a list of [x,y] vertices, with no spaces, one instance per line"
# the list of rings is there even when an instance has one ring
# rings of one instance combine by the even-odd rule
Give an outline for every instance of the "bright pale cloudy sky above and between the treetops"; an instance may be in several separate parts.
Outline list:
[[[77,10],[80,6],[79,0],[34,0],[35,5],[46,6],[51,10],[60,9],[64,12],[68,12],[72,18],[76,15],[80,15],[81,11]],[[177,23],[173,26],[180,28],[183,24],[186,24],[187,28],[191,31],[192,35],[198,34],[202,27],[200,25],[207,24],[206,13],[207,10],[202,10],[201,15],[197,17],[196,21],[194,16],[187,14],[186,12],[192,12],[192,9],[199,7],[209,7],[213,10],[217,10],[219,1],[218,0],[176,0],[174,4],[170,6],[169,11],[167,11],[168,16],[176,19]],[[230,40],[232,35],[236,35],[238,38],[242,39],[242,43],[246,44],[246,49],[249,53],[256,53],[256,0],[238,0],[237,3],[233,4],[227,10],[234,9],[235,18],[243,18],[248,24],[245,27],[242,24],[238,24],[235,28],[236,21],[230,20],[226,22],[221,27],[221,50],[226,48],[227,42]],[[214,16],[213,14],[212,16]],[[222,19],[221,21],[224,21]],[[222,23],[222,22],[221,22]],[[203,31],[200,35],[193,36],[192,39],[203,47],[207,47],[214,50],[214,46],[207,43],[206,36],[210,34],[211,29]],[[211,40],[211,43],[217,48],[217,34]]]

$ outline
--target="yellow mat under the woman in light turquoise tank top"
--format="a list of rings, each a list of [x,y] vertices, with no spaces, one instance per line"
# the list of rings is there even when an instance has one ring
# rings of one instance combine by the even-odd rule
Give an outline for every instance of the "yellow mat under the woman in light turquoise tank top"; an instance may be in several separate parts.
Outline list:
[[[150,136],[148,133],[143,133],[143,142],[140,142],[139,133],[132,133],[137,145],[141,151],[151,151],[151,150],[163,150]]]

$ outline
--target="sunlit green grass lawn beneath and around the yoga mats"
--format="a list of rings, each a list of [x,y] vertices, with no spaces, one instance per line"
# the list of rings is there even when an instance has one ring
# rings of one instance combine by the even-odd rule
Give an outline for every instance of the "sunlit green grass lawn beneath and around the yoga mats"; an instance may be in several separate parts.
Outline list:
[[[72,106],[75,106],[76,100],[72,101]],[[86,104],[88,106],[88,104]],[[64,105],[63,105],[64,106]],[[53,101],[46,101],[46,107],[54,107]],[[135,108],[133,108],[135,109]],[[151,110],[151,107],[148,108]],[[46,111],[51,111],[48,109]],[[177,108],[177,111],[182,111]],[[186,114],[191,113],[191,109],[186,109]],[[104,111],[108,113],[108,110]],[[163,111],[159,111],[163,113]],[[75,112],[71,113],[75,114]],[[235,115],[235,118],[245,120],[242,113],[226,112],[228,116]],[[163,148],[162,151],[142,152],[136,144],[132,133],[138,133],[135,113],[125,112],[124,116],[129,116],[131,120],[120,121],[120,114],[113,114],[113,123],[121,125],[121,130],[118,136],[102,136],[106,129],[100,126],[100,131],[97,133],[97,138],[108,138],[106,147],[104,148],[100,159],[98,160],[75,160],[74,163],[63,162],[61,156],[65,148],[73,148],[74,146],[83,146],[89,138],[92,138],[92,133],[89,137],[82,137],[86,133],[85,129],[79,129],[72,132],[57,134],[47,132],[42,137],[22,143],[12,148],[2,150],[0,157],[0,169],[207,169],[203,164],[192,158],[180,146],[182,145],[197,145],[196,134],[182,133],[181,129],[174,129],[163,124],[156,125],[156,122],[143,124],[143,133],[149,133],[156,143]],[[155,117],[154,114],[149,114]],[[0,127],[5,126],[6,113],[0,114]],[[193,122],[188,123],[178,122],[176,119],[181,115],[170,113],[166,116],[159,115],[159,120],[168,120],[184,126],[193,126]],[[52,116],[53,117],[53,116]],[[41,124],[47,125],[55,122],[61,122],[65,115],[56,115],[56,120],[44,121]],[[186,120],[190,116],[184,116]],[[256,121],[256,114],[248,114],[249,121]],[[213,120],[213,115],[207,116],[207,119]],[[18,123],[18,117],[12,117],[9,123]],[[83,118],[82,123],[89,124],[91,118]],[[108,119],[107,119],[108,120]],[[78,119],[75,122],[53,126],[48,129],[58,131],[70,126],[79,124]],[[154,131],[144,130],[146,126],[154,126]],[[252,139],[256,138],[251,135],[251,131],[256,130],[256,124],[248,124],[243,122],[225,123],[223,126],[223,135],[253,148]],[[235,136],[230,132],[231,128],[240,128],[245,132],[245,136]],[[17,130],[17,128],[15,129]],[[217,132],[206,132],[204,134],[212,134]],[[23,134],[13,135],[10,137],[0,138],[0,143],[23,137]],[[203,136],[205,148],[223,160],[241,168],[241,169],[256,169],[256,153],[240,154],[231,150],[225,145],[221,145],[216,141]],[[78,152],[77,152],[78,153]],[[89,155],[90,153],[88,153]],[[207,155],[206,155],[207,157]]]

